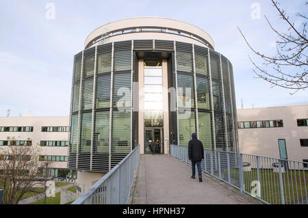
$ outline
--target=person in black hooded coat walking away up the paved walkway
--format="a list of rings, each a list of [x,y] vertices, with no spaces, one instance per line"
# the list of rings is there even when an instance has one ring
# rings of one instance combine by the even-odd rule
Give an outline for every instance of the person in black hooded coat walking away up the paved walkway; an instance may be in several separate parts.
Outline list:
[[[199,182],[202,182],[201,161],[204,159],[203,144],[196,137],[196,133],[192,133],[192,140],[188,142],[188,158],[192,162],[192,177],[195,178],[196,165],[198,168]]]

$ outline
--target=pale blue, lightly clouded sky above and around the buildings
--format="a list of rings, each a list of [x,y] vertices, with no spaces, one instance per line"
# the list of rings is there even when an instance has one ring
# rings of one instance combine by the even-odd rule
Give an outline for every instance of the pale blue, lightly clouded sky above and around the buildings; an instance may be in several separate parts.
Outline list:
[[[297,27],[303,1],[280,1]],[[54,17],[47,16],[50,4]],[[50,14],[49,14],[50,15]],[[285,31],[270,1],[92,1],[0,0],[0,116],[69,115],[73,56],[84,49],[88,34],[112,21],[140,16],[173,18],[200,27],[214,40],[215,50],[233,64],[237,108],[308,105],[308,90],[271,87],[255,78],[245,44],[274,55],[278,40],[272,25]],[[53,19],[54,18],[54,19]]]

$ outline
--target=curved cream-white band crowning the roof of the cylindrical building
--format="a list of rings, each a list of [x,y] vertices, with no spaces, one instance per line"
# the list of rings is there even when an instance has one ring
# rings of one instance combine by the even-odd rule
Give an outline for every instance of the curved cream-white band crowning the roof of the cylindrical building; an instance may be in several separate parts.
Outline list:
[[[89,47],[91,42],[99,37],[101,37],[104,33],[107,32],[115,32],[121,31],[125,29],[132,29],[132,28],[164,28],[164,29],[175,29],[179,30],[183,33],[191,34],[192,36],[203,39],[205,42],[209,43],[213,49],[215,47],[214,40],[209,36],[207,32],[203,29],[196,27],[190,23],[185,23],[183,21],[177,21],[171,18],[161,18],[161,17],[137,17],[137,18],[126,18],[119,21],[114,21],[111,23],[107,23],[94,29],[88,37],[86,38],[86,42],[84,44],[84,48],[86,49]],[[112,37],[112,36],[110,36]]]

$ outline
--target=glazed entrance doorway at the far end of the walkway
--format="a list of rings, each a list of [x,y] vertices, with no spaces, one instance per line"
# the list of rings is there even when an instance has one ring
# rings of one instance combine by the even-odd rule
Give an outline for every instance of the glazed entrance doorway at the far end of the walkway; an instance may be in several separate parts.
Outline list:
[[[163,128],[144,129],[144,154],[153,154],[152,145],[158,140],[155,154],[164,154]]]

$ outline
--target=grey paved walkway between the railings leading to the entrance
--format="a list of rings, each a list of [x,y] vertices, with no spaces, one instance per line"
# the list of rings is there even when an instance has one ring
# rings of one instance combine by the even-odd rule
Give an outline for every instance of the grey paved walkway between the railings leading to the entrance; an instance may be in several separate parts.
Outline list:
[[[133,191],[132,204],[258,204],[224,182],[203,174],[190,178],[191,167],[168,155],[145,154]]]

